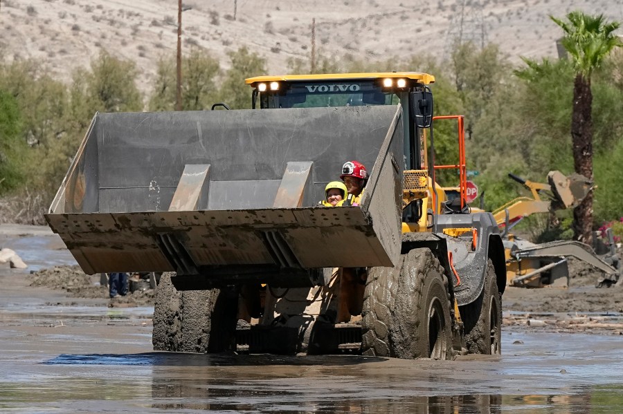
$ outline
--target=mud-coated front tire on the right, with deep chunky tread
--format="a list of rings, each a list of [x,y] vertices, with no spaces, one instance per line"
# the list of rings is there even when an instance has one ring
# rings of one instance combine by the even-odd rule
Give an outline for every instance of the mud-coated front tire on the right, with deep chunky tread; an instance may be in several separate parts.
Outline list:
[[[451,359],[447,279],[429,249],[401,257],[399,269],[373,267],[363,302],[363,355]]]

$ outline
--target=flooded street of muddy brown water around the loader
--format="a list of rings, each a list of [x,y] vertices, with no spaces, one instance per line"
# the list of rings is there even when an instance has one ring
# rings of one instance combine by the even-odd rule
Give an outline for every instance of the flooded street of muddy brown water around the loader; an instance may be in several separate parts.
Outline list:
[[[87,305],[31,288],[26,276],[0,270],[1,412],[620,413],[623,406],[623,336],[613,333],[505,328],[502,357],[455,361],[150,352],[152,307],[108,308],[105,297]]]

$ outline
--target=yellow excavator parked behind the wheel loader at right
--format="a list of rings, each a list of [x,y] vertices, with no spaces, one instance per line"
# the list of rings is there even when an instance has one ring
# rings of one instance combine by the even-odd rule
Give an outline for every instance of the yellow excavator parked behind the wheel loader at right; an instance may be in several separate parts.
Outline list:
[[[530,190],[532,197],[522,196],[509,201],[493,211],[503,233],[506,255],[507,285],[540,288],[544,285],[566,287],[569,285],[567,258],[575,257],[603,272],[597,287],[616,283],[619,260],[612,234],[606,234],[605,256],[598,256],[593,248],[579,241],[553,241],[534,244],[510,233],[523,218],[537,213],[577,206],[593,188],[593,182],[574,173],[564,176],[560,171],[548,173],[548,183],[524,180],[512,173],[510,178]]]

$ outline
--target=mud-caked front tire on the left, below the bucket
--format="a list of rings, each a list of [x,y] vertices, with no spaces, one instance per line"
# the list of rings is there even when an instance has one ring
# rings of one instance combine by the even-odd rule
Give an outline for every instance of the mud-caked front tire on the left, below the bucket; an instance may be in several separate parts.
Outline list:
[[[185,290],[161,276],[154,307],[154,350],[222,352],[235,347],[237,297],[225,290]]]

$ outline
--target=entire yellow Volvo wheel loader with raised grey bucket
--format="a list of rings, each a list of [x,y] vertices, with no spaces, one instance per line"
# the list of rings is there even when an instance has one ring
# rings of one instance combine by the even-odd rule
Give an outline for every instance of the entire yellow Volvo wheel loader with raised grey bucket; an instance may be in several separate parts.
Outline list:
[[[433,82],[264,76],[251,110],[97,113],[46,219],[84,272],[163,272],[154,350],[499,353],[502,238],[465,203],[462,117],[435,165]],[[349,160],[359,205],[318,206]]]

